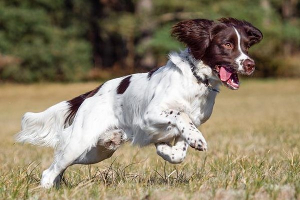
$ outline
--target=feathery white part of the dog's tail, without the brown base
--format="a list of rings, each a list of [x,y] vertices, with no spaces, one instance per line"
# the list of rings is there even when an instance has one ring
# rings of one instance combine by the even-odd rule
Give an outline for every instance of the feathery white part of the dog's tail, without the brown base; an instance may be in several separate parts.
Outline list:
[[[22,117],[21,131],[17,133],[16,141],[54,148],[59,140],[59,133],[66,125],[69,108],[69,102],[62,101],[42,112],[26,112]]]

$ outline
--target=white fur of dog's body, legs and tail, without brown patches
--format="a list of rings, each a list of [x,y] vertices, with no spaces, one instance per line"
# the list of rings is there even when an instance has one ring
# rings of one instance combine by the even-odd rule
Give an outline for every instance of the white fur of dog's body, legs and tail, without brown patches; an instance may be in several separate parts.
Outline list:
[[[67,101],[40,113],[26,113],[17,141],[55,147],[54,161],[43,171],[41,185],[59,185],[67,166],[106,159],[127,140],[140,146],[155,144],[157,153],[172,163],[184,159],[188,145],[206,150],[196,127],[209,118],[216,92],[197,82],[190,63],[198,76],[219,87],[210,67],[185,50],[171,53],[167,64],[150,78],[148,73],[132,74],[122,94],[116,88],[124,77],[105,82],[82,102],[70,126],[64,124]]]

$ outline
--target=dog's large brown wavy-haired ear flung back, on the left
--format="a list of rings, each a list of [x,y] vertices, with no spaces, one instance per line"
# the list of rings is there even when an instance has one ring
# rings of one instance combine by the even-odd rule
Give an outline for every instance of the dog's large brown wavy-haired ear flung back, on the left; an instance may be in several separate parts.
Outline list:
[[[215,22],[208,19],[189,19],[172,27],[171,35],[183,42],[196,59],[201,59],[212,38]]]

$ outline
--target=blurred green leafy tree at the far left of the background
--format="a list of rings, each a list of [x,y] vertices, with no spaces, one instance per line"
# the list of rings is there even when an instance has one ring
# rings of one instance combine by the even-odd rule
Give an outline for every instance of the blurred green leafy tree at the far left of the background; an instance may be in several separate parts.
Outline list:
[[[0,52],[18,60],[1,67],[1,78],[23,82],[82,78],[91,67],[90,43],[67,8],[63,1],[1,1]]]

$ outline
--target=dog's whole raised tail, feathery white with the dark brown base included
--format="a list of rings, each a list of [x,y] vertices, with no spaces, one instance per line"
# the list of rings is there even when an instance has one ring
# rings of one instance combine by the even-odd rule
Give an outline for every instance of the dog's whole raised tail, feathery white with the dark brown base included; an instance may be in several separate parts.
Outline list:
[[[70,126],[81,103],[93,96],[101,87],[81,94],[71,100],[61,101],[42,112],[26,112],[22,117],[21,131],[15,136],[17,142],[28,142],[33,145],[56,147],[63,143],[64,128]]]

